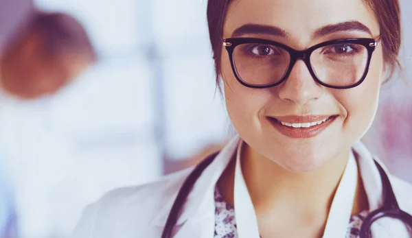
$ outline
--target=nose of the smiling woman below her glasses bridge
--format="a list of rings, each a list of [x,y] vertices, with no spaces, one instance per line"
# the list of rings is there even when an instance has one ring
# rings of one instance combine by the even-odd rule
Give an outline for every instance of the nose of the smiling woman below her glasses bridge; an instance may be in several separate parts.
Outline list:
[[[323,86],[313,80],[305,62],[298,60],[286,81],[278,86],[277,93],[284,101],[305,105],[312,100],[319,99],[323,91]]]

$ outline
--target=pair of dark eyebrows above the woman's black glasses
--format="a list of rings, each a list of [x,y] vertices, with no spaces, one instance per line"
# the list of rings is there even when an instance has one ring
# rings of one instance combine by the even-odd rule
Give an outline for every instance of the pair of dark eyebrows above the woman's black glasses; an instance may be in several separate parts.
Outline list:
[[[337,33],[337,32],[365,32],[369,35],[372,35],[371,30],[366,26],[360,23],[359,21],[345,21],[343,23],[336,23],[332,25],[325,25],[317,29],[312,38],[319,38],[321,36],[326,36],[328,34]],[[279,27],[272,25],[260,25],[248,23],[242,25],[235,29],[231,37],[239,37],[246,34],[265,34],[269,36],[281,36],[287,38],[289,34]]]

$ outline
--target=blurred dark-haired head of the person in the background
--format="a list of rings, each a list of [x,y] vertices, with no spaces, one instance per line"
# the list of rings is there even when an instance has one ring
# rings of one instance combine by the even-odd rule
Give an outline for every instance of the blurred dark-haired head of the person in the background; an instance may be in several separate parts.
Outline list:
[[[0,56],[3,90],[21,99],[54,95],[95,61],[82,25],[69,14],[36,11]]]

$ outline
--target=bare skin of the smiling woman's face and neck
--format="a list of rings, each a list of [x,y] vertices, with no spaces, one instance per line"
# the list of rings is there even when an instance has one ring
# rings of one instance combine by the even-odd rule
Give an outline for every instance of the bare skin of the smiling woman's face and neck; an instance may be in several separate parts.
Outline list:
[[[350,31],[313,37],[321,27],[345,21],[363,23],[371,34]],[[362,0],[238,0],[229,8],[223,38],[248,23],[279,27],[288,36],[242,37],[275,40],[298,50],[327,40],[376,38],[380,34],[373,12]],[[321,237],[350,147],[363,137],[376,115],[385,74],[382,47],[376,47],[365,81],[344,90],[314,82],[301,60],[279,86],[248,88],[233,75],[225,49],[221,60],[227,111],[245,141],[242,171],[262,237]],[[266,118],[285,115],[337,117],[321,134],[293,139],[277,132]],[[218,186],[233,204],[233,164]],[[352,213],[365,209],[367,197],[359,177]]]

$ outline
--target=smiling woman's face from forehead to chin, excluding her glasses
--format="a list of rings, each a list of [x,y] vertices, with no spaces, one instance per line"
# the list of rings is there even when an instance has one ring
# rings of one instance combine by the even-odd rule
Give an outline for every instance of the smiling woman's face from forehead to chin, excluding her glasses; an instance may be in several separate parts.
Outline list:
[[[362,0],[234,1],[227,12],[223,38],[239,33],[237,29],[244,25],[260,27],[243,27],[236,37],[273,40],[297,50],[328,40],[377,38],[380,34],[374,13]],[[273,34],[276,31],[268,27],[284,34]],[[233,126],[253,150],[290,171],[312,171],[347,154],[376,114],[384,74],[381,46],[371,57],[365,81],[350,89],[321,86],[302,60],[296,62],[282,84],[248,88],[236,80],[226,51],[222,51],[221,60],[227,111]],[[305,128],[291,128],[293,123]]]

